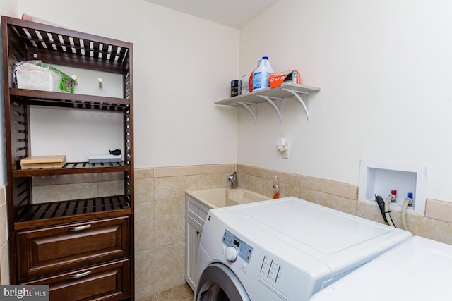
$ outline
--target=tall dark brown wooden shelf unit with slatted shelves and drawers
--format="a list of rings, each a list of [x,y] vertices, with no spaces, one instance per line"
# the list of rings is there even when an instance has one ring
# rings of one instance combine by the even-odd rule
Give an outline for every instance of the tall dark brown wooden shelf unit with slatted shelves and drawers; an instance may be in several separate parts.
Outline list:
[[[6,16],[1,30],[10,281],[47,284],[50,300],[133,300],[133,44]],[[29,60],[117,74],[123,95],[18,89],[14,66]],[[32,155],[30,106],[121,114],[124,161],[21,169]],[[122,193],[33,202],[34,178],[81,174],[119,174]]]

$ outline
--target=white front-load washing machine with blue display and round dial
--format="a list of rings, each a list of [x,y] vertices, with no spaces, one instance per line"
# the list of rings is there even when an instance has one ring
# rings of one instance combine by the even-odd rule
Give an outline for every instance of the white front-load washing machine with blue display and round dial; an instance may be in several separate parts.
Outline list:
[[[411,236],[296,197],[211,209],[195,300],[309,300]]]

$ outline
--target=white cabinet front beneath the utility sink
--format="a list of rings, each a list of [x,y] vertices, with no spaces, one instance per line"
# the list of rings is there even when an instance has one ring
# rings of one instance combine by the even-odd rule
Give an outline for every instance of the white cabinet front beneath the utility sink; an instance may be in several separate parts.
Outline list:
[[[199,244],[209,209],[194,197],[185,195],[185,280],[193,291],[196,288]]]

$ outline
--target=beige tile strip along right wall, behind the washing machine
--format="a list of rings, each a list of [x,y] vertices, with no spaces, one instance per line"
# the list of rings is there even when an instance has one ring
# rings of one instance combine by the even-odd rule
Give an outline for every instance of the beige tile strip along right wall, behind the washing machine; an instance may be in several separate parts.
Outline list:
[[[280,173],[252,166],[237,166],[238,185],[271,195],[273,175],[278,175],[281,197],[295,196],[309,202],[384,223],[379,208],[359,202],[358,187],[332,180],[312,178],[292,173]],[[400,212],[393,211],[394,223],[402,224]],[[420,235],[452,245],[452,203],[427,199],[424,216],[407,214],[407,226],[413,235]]]

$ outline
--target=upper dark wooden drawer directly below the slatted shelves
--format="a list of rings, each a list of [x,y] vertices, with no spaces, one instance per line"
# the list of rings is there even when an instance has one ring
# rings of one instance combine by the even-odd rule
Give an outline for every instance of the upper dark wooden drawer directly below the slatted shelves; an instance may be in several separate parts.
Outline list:
[[[17,234],[18,280],[128,257],[128,216],[21,231]]]

